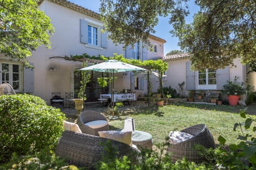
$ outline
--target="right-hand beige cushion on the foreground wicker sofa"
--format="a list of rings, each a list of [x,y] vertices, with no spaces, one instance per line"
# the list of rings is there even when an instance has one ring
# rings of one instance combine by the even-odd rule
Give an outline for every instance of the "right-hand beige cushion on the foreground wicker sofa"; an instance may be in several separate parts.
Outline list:
[[[111,139],[132,146],[132,132],[100,131],[101,138]]]

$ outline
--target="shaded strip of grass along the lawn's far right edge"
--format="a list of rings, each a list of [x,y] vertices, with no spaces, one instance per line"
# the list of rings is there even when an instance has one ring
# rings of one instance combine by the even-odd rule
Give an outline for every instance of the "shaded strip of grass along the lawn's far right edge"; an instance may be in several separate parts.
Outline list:
[[[241,109],[245,109],[247,107],[247,113],[256,114],[255,106],[229,106],[229,105],[208,105],[208,104],[190,104],[190,103],[176,103],[172,104],[175,106],[184,106],[184,107],[194,107],[198,109],[205,109],[210,111],[221,111],[221,112],[231,112],[231,113],[239,113]]]

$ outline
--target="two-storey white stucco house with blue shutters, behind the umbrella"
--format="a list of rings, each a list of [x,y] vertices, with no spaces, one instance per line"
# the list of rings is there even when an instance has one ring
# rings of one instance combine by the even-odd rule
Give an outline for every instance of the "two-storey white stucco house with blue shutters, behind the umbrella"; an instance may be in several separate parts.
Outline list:
[[[81,69],[82,62],[64,60],[64,56],[104,55],[113,56],[114,53],[123,54],[125,58],[134,58],[141,61],[162,58],[164,56],[164,43],[162,38],[151,35],[150,42],[154,45],[151,52],[142,48],[142,43],[127,47],[115,46],[107,33],[101,32],[103,23],[99,14],[87,10],[66,0],[44,0],[39,3],[39,8],[51,19],[55,33],[50,38],[51,49],[39,47],[28,58],[34,66],[33,70],[23,69],[20,62],[10,61],[9,58],[0,56],[1,83],[9,82],[16,92],[29,92],[46,100],[49,104],[52,92],[61,92],[65,98],[65,92],[74,92],[76,97],[80,81],[77,69]],[[93,78],[87,88],[87,101],[95,101],[102,92],[97,82],[97,77],[102,73],[93,72]],[[132,89],[137,96],[147,91],[147,81],[140,75],[132,76],[131,73],[117,73],[115,90]],[[155,83],[156,84],[156,83]],[[108,89],[107,89],[108,90]]]

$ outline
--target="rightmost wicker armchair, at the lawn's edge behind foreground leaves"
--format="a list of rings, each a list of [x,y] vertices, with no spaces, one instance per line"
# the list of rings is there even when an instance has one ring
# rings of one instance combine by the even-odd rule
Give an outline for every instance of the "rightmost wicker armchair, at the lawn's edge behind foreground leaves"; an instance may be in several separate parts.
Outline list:
[[[190,162],[201,163],[204,159],[198,155],[198,151],[194,149],[194,146],[202,145],[205,148],[215,148],[213,136],[205,124],[194,125],[181,130],[181,132],[193,135],[193,137],[182,142],[173,143],[167,147],[166,152],[172,153],[172,162],[186,157]]]

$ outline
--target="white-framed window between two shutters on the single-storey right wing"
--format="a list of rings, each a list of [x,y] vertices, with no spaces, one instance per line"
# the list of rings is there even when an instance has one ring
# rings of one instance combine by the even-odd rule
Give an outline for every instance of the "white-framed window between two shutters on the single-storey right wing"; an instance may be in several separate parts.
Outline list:
[[[198,89],[216,89],[217,74],[216,70],[205,69],[197,72],[197,88]]]

